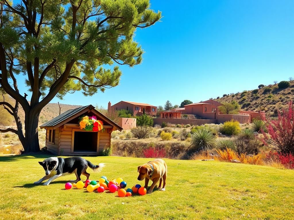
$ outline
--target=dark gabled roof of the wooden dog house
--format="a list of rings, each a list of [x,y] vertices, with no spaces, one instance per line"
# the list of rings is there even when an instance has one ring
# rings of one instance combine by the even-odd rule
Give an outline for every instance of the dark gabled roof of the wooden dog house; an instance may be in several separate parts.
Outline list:
[[[107,118],[105,115],[103,115],[101,112],[97,111],[94,106],[87,105],[82,106],[76,109],[70,109],[65,111],[64,113],[60,114],[59,116],[55,117],[54,119],[51,119],[50,121],[47,121],[46,123],[42,124],[40,128],[45,127],[54,127],[54,126],[61,126],[66,123],[66,121],[72,117],[77,117],[79,114],[83,114],[85,110],[93,110],[102,120],[106,121],[107,123],[111,124],[113,127],[118,129],[119,131],[123,130],[118,124],[113,122],[111,119]]]

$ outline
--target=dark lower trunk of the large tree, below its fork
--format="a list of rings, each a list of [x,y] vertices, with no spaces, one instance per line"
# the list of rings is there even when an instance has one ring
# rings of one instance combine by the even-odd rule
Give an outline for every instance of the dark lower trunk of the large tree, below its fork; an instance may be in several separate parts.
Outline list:
[[[24,153],[39,152],[38,122],[41,111],[25,112],[25,141],[23,144]]]

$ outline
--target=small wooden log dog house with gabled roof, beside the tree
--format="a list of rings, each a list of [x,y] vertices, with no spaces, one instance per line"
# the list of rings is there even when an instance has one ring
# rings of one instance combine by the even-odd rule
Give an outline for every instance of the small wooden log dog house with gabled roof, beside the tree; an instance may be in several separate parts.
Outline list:
[[[96,116],[103,121],[101,131],[85,131],[78,124],[81,115]],[[111,145],[111,132],[123,128],[88,105],[68,110],[42,124],[46,129],[47,150],[55,155],[99,155]]]

